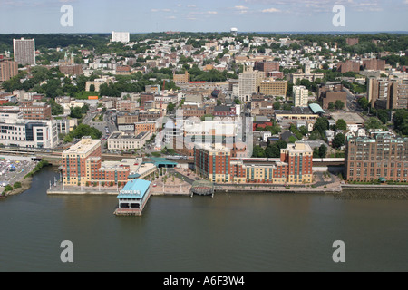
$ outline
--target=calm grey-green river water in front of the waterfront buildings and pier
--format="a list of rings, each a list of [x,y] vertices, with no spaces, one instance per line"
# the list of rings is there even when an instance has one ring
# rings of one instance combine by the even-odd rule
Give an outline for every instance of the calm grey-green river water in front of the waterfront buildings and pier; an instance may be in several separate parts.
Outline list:
[[[408,201],[319,194],[151,197],[116,217],[116,197],[47,196],[57,174],[0,200],[0,271],[407,271]],[[61,243],[73,243],[63,263]],[[335,263],[333,243],[345,243]]]

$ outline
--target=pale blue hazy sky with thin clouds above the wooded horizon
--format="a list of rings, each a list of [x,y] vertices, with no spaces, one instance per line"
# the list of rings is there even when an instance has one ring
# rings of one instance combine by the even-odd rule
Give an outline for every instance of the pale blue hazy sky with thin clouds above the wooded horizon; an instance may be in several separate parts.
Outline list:
[[[73,26],[60,22],[63,5]],[[0,0],[0,33],[408,31],[407,13],[408,0]]]

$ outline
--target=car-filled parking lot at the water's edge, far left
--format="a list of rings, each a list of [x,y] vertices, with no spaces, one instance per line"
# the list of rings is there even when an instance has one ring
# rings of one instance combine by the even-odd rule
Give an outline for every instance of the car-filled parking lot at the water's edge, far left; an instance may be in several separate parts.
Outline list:
[[[13,186],[15,182],[21,182],[35,165],[36,162],[30,158],[0,156],[0,192],[3,192],[8,184]]]

